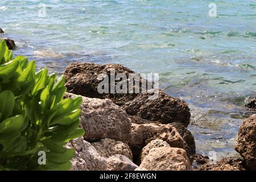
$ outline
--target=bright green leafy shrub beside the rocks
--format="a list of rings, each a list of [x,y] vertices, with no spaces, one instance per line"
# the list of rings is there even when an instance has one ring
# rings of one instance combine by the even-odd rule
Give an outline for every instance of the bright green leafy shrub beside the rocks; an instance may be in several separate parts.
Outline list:
[[[64,146],[84,135],[81,97],[64,100],[64,77],[35,73],[35,64],[0,42],[0,170],[68,170],[75,150]]]

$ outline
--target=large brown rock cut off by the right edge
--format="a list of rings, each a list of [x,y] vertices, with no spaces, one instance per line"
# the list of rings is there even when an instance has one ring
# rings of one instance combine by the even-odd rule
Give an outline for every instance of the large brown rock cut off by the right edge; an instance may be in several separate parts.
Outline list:
[[[251,170],[256,170],[256,114],[243,121],[234,149],[246,160]]]

